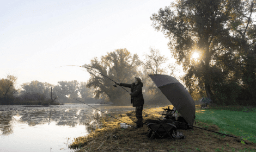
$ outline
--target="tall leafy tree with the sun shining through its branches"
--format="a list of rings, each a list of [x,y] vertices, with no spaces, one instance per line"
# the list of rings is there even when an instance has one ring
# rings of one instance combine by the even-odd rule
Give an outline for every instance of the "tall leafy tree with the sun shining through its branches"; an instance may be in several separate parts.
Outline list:
[[[173,7],[160,9],[150,19],[157,31],[162,31],[169,38],[169,48],[182,64],[184,77],[189,90],[196,82],[203,87],[209,98],[212,98],[212,84],[218,77],[216,71],[227,78],[229,71],[216,65],[216,56],[222,59],[231,58],[232,49],[226,47],[231,43],[227,22],[231,11],[231,2],[224,0],[180,0]],[[194,52],[200,54],[199,60],[193,60]],[[203,85],[202,85],[203,84]]]

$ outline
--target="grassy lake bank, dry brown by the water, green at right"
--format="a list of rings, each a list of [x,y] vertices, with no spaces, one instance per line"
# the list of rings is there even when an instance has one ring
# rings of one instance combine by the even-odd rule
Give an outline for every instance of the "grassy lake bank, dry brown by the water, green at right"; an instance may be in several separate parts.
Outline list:
[[[164,108],[166,107],[167,106],[164,106]],[[170,107],[172,108],[172,105],[170,105]],[[144,111],[155,116],[161,116],[163,111],[162,108],[163,107],[145,108]],[[195,126],[240,137],[241,132],[234,132],[234,134],[231,134],[232,131],[224,128],[226,125],[224,125],[223,122],[229,124],[230,128],[228,129],[234,128],[231,126],[234,125],[233,117],[227,116],[223,119],[223,113],[220,112],[222,112],[222,110],[211,109],[211,107],[208,110],[201,110],[197,107],[197,123]],[[250,112],[250,114],[254,116],[252,112]],[[242,116],[235,120],[237,121],[239,119],[239,121],[241,121],[240,119],[243,119]],[[133,123],[127,116],[120,119],[128,124],[135,125],[135,123]],[[241,125],[242,127],[239,126],[239,129],[242,130],[243,133],[253,134],[255,138],[255,134],[249,132],[255,121],[253,122],[253,120],[249,118],[245,119],[249,122],[244,123],[252,123],[252,125]],[[256,144],[252,142],[254,139],[253,137],[245,138],[245,140],[243,140],[245,144],[243,144],[236,138],[221,136],[214,132],[193,128],[190,130],[179,130],[186,137],[182,140],[170,140],[168,138],[148,140],[148,137],[145,135],[148,133],[147,125],[139,129],[121,129],[121,122],[116,119],[105,117],[101,120],[102,128],[96,129],[86,137],[76,138],[70,145],[70,148],[81,147],[81,149],[77,151],[256,151]],[[239,124],[237,122],[235,123],[235,126]],[[224,132],[223,129],[227,132]]]

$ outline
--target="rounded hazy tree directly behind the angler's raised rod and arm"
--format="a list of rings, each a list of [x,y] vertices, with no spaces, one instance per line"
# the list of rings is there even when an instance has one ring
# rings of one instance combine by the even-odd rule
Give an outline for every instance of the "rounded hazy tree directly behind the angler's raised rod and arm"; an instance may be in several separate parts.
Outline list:
[[[111,102],[118,104],[120,103],[121,96],[129,94],[122,88],[118,89],[113,87],[113,81],[108,78],[116,82],[131,83],[135,75],[137,75],[136,70],[139,64],[138,55],[131,55],[125,48],[115,49],[114,52],[101,56],[100,60],[94,58],[89,65],[83,65],[90,73],[90,79],[86,87],[94,87],[94,96],[96,98],[106,96]],[[99,73],[108,78],[103,77],[103,75]],[[125,96],[125,98],[130,99],[128,96]]]

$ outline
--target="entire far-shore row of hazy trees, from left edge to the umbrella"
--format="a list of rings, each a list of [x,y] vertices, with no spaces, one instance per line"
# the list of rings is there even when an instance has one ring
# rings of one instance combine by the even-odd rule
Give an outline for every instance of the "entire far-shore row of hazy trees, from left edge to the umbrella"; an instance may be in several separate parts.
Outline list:
[[[31,81],[16,88],[17,78],[8,75],[0,81],[0,104],[52,104],[58,103],[99,103],[112,102],[115,105],[130,105],[130,95],[123,88],[114,87],[113,81],[133,83],[134,77],[141,77],[144,83],[143,94],[146,104],[170,104],[161,91],[154,85],[147,74],[173,74],[174,66],[166,65],[167,58],[159,50],[150,47],[150,52],[144,54],[145,59],[139,60],[138,55],[132,55],[126,49],[114,52],[92,60],[92,64],[84,67],[91,74],[86,82],[59,81],[57,85]],[[100,72],[108,78],[103,77]],[[169,73],[168,73],[169,72]],[[51,91],[52,90],[52,91]],[[130,88],[126,88],[130,91]],[[77,100],[75,100],[77,99]]]

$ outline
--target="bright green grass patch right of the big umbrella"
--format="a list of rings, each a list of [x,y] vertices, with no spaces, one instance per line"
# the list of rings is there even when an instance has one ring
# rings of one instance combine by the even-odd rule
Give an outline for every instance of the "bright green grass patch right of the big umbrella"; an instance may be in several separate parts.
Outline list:
[[[220,132],[228,134],[231,132],[245,140],[256,143],[256,112],[243,108],[238,111],[206,109],[197,112],[196,119],[216,124],[221,128]]]

